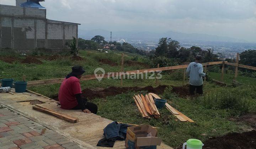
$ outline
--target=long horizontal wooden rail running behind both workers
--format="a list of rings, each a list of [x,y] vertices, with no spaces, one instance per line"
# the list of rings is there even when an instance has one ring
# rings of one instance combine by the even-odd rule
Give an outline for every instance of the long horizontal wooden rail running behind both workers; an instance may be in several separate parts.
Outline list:
[[[223,61],[207,62],[207,63],[203,63],[202,65],[208,66],[208,65],[217,65],[217,64],[222,64],[222,63],[223,63]],[[159,71],[166,71],[166,70],[175,70],[175,69],[182,69],[182,68],[187,68],[187,67],[188,67],[188,65],[178,65],[178,66],[151,68],[151,69],[143,69],[143,70],[132,70],[132,71],[124,71],[124,72],[110,72],[110,73],[100,74],[100,75],[98,75],[99,77],[96,77],[95,75],[87,75],[87,76],[82,76],[80,78],[80,81],[97,79],[97,78],[117,77],[119,75],[125,75],[125,74],[138,74],[138,73],[146,73],[146,72],[159,72]],[[57,84],[57,83],[62,83],[64,79],[65,78],[30,81],[30,82],[28,82],[27,86],[31,87],[31,86],[37,86],[37,85]]]

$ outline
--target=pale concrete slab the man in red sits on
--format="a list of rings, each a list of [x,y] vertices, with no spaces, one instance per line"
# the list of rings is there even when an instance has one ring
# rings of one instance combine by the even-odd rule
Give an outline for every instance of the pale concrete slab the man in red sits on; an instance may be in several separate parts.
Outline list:
[[[39,100],[44,102],[41,104],[49,109],[67,114],[70,116],[78,117],[78,123],[70,123],[61,120],[57,117],[44,114],[32,109],[30,101]],[[25,101],[25,102],[21,102]],[[113,122],[107,118],[95,114],[86,114],[80,110],[64,110],[60,106],[57,106],[57,102],[49,100],[42,96],[34,94],[25,95],[22,93],[15,93],[15,95],[9,93],[0,93],[0,103],[9,106],[10,108],[20,112],[23,116],[30,118],[31,120],[40,123],[41,125],[52,129],[55,132],[73,140],[74,142],[81,144],[84,148],[88,149],[102,149],[97,147],[98,140],[103,138],[103,128],[109,123]],[[116,141],[114,148],[124,149],[124,141]],[[171,147],[162,143],[159,149],[171,149]]]

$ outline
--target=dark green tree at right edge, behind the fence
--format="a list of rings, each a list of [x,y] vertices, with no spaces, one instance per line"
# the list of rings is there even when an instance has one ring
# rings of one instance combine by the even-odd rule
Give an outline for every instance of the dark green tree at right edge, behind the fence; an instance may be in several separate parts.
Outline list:
[[[241,64],[256,67],[256,50],[246,50],[240,54]]]

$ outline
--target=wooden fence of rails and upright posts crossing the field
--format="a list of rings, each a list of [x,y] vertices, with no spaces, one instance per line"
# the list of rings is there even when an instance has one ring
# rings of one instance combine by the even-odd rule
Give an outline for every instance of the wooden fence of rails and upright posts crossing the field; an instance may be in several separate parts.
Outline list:
[[[240,65],[238,64],[238,60],[239,60],[239,54],[236,58],[237,62],[236,63],[230,63],[227,61],[218,61],[218,62],[207,62],[207,63],[202,63],[203,66],[209,66],[209,65],[222,65],[222,74],[221,74],[221,81],[223,81],[224,79],[224,66],[226,65],[230,65],[230,66],[235,66],[236,67],[236,72],[235,72],[235,77],[234,79],[236,79],[237,75],[238,75],[238,67],[241,68],[247,68],[247,69],[251,69],[251,70],[256,70],[256,67],[252,67],[252,66],[246,66],[246,65]],[[188,65],[178,65],[178,66],[169,66],[169,67],[160,67],[160,68],[150,68],[150,69],[143,69],[143,70],[132,70],[132,71],[123,71],[123,56],[122,56],[122,68],[121,68],[121,72],[110,72],[110,73],[105,73],[105,74],[101,74],[98,75],[98,77],[96,77],[95,75],[87,75],[87,76],[82,76],[80,81],[85,81],[85,80],[91,80],[91,79],[97,79],[97,78],[107,78],[107,77],[118,77],[118,76],[123,76],[126,74],[139,74],[139,73],[146,73],[146,72],[159,72],[159,71],[166,71],[166,70],[176,70],[176,69],[185,69],[187,68]],[[185,79],[185,73],[183,74],[183,79]],[[122,77],[121,77],[122,78]],[[57,78],[57,79],[46,79],[46,80],[39,80],[39,81],[30,81],[28,82],[27,86],[31,87],[31,86],[37,86],[37,85],[46,85],[46,84],[57,84],[57,83],[62,83],[62,81],[65,78]],[[158,83],[158,81],[156,81],[156,83]],[[122,79],[121,79],[121,84],[122,84]]]

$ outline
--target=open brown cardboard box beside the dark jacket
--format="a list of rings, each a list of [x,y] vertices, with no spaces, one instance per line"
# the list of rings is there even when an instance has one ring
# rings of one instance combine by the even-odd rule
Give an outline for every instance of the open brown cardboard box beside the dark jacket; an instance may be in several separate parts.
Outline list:
[[[128,149],[156,149],[162,138],[157,137],[157,130],[150,125],[139,125],[127,128],[125,146]]]

